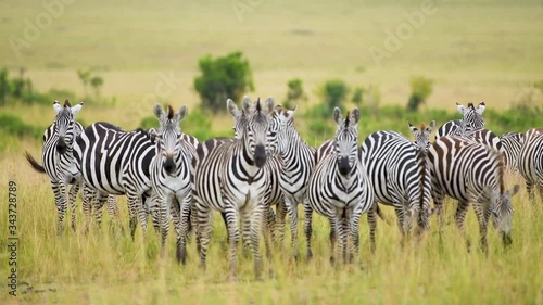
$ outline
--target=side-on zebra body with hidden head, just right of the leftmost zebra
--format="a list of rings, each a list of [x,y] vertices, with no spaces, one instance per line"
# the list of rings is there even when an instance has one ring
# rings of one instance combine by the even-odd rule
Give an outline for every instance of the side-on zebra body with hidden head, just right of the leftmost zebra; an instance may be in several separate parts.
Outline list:
[[[151,195],[150,164],[155,144],[142,129],[123,131],[117,126],[98,122],[84,129],[74,145],[77,169],[84,182],[98,191],[97,211],[108,194],[125,194],[134,240],[137,217],[142,232],[147,231],[147,214],[142,208]]]

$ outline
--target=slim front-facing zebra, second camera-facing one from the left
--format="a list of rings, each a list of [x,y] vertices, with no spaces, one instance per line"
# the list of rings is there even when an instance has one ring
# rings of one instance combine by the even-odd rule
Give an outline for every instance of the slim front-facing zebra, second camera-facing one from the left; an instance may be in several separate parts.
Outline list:
[[[155,156],[150,164],[150,178],[153,188],[153,202],[159,205],[161,220],[161,254],[163,254],[169,227],[169,213],[177,232],[178,262],[186,264],[186,242],[189,230],[190,206],[192,201],[192,157],[195,149],[182,139],[179,123],[187,114],[184,105],[177,113],[171,105],[167,112],[160,104],[154,106],[154,115],[161,127],[153,132]]]

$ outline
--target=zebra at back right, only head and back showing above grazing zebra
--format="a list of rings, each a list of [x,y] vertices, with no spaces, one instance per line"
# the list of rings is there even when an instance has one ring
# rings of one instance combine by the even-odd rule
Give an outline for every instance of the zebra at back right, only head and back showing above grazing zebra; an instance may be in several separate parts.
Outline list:
[[[479,105],[477,105],[477,109],[472,103],[468,103],[467,107],[456,103],[456,109],[463,115],[463,118],[449,120],[443,124],[440,128],[438,128],[438,131],[435,131],[435,139],[447,135],[464,135],[466,132],[482,129],[484,127],[482,113],[485,107],[487,106],[482,101]]]

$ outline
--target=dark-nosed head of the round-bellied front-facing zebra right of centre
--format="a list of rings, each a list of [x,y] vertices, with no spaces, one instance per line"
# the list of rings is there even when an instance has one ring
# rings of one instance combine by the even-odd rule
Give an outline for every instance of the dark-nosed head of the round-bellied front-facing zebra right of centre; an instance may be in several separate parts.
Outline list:
[[[359,118],[358,109],[354,109],[351,114],[348,112],[345,119],[343,119],[339,107],[333,109],[333,120],[338,125],[338,131],[336,132],[338,169],[343,176],[348,176],[356,168]]]

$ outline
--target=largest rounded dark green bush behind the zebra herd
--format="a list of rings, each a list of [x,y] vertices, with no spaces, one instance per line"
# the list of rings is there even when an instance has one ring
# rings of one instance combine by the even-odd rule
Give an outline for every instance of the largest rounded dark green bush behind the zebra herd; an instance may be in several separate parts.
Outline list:
[[[226,111],[226,100],[240,100],[245,91],[254,90],[249,61],[241,52],[214,59],[205,55],[198,62],[202,75],[194,78],[194,89],[202,106],[213,113]]]

